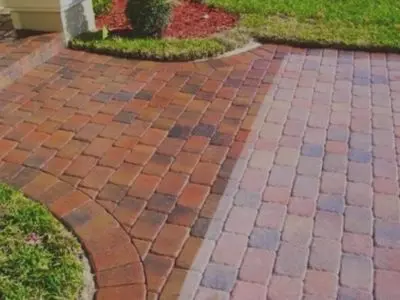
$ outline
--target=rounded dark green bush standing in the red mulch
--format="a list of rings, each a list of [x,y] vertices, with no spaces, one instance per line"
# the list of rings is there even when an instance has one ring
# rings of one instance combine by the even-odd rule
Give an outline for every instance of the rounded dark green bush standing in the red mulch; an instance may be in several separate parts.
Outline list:
[[[128,0],[125,14],[135,36],[160,38],[168,26],[171,11],[168,0]]]

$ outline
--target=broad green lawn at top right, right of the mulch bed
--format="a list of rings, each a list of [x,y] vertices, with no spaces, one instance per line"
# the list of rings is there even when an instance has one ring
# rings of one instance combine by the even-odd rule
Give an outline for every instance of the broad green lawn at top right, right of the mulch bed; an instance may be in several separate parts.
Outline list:
[[[400,1],[207,0],[264,41],[400,49]]]

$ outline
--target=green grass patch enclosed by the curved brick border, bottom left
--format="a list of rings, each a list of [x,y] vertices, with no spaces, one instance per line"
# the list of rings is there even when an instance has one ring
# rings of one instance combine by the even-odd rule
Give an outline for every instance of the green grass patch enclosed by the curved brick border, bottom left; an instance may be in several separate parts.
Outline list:
[[[0,299],[76,300],[83,285],[81,253],[50,212],[0,185]]]

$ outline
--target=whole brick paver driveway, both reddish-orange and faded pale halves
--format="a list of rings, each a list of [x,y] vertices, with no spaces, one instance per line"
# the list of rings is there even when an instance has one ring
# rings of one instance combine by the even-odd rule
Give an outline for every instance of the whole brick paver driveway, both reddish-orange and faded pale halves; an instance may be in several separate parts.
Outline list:
[[[0,107],[0,180],[77,233],[97,299],[400,299],[398,55],[63,50]]]

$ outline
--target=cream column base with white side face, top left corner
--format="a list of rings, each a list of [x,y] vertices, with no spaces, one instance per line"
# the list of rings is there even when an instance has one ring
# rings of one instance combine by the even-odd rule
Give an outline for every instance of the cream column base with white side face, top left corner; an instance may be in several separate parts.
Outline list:
[[[15,29],[64,32],[68,40],[95,29],[92,0],[0,0]]]

